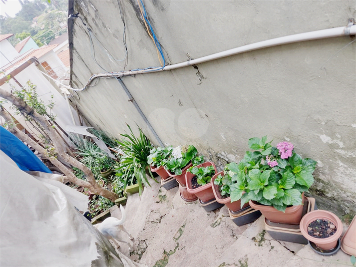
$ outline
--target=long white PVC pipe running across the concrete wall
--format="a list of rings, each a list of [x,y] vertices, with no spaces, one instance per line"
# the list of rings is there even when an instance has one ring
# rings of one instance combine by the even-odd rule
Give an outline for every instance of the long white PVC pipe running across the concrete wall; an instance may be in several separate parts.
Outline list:
[[[196,59],[191,59],[189,61],[185,61],[185,62],[173,64],[173,65],[167,65],[163,68],[157,67],[157,68],[152,68],[149,70],[133,70],[133,71],[127,70],[127,71],[120,71],[120,72],[108,72],[108,73],[93,74],[90,77],[90,79],[88,80],[87,84],[83,88],[73,89],[68,86],[66,86],[66,88],[72,89],[75,91],[82,91],[88,85],[90,85],[92,80],[95,78],[122,77],[122,76],[127,76],[127,75],[135,75],[135,74],[159,72],[159,71],[164,71],[164,70],[172,70],[172,69],[182,68],[182,67],[186,67],[186,66],[196,65],[199,63],[203,63],[203,62],[207,62],[207,61],[211,61],[211,60],[215,60],[215,59],[219,59],[219,58],[223,58],[223,57],[227,57],[227,56],[231,56],[231,55],[241,54],[244,52],[249,52],[249,51],[253,51],[253,50],[257,50],[257,49],[261,49],[261,48],[277,46],[277,45],[281,45],[281,44],[318,40],[318,39],[339,37],[339,36],[349,36],[349,35],[355,35],[355,34],[356,34],[356,25],[347,26],[347,27],[331,28],[331,29],[322,29],[322,30],[310,31],[310,32],[299,33],[299,34],[294,34],[294,35],[288,35],[288,36],[278,37],[278,38],[274,38],[274,39],[270,39],[270,40],[266,40],[266,41],[247,44],[247,45],[240,46],[237,48],[225,50],[225,51],[222,51],[219,53],[203,56],[203,57],[196,58]]]

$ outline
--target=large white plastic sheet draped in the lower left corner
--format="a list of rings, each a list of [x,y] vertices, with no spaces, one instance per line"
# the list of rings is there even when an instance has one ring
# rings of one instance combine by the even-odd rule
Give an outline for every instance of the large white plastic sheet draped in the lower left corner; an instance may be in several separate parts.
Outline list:
[[[21,171],[2,151],[0,159],[0,266],[123,266],[107,239],[75,211],[68,200],[75,193]],[[82,205],[80,197],[72,201]]]

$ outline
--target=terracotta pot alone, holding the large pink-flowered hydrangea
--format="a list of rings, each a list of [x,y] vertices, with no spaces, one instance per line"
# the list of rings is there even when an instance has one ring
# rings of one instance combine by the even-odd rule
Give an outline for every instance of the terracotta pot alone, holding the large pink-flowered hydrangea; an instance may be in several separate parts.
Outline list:
[[[302,203],[304,203],[304,192],[302,194]],[[273,206],[265,206],[256,201],[249,201],[251,208],[259,210],[267,220],[274,223],[283,223],[290,225],[299,225],[303,214],[303,204],[287,207],[285,212],[276,210]]]

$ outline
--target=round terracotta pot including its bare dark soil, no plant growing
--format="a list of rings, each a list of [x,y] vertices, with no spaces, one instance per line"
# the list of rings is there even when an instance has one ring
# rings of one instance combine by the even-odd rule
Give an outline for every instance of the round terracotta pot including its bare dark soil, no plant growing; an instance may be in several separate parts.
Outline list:
[[[321,250],[321,253],[328,253],[334,250],[340,242],[343,223],[331,212],[316,210],[303,216],[300,230],[307,240],[313,242]]]

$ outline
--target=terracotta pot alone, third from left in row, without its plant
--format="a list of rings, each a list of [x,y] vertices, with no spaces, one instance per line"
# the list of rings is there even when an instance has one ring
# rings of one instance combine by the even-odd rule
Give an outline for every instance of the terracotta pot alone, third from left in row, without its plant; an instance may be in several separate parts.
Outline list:
[[[215,173],[217,173],[215,164],[213,162],[205,162],[203,164],[200,164],[198,166],[196,166],[197,168],[200,167],[208,167],[208,166],[213,166]],[[195,194],[202,202],[207,202],[209,200],[215,199],[215,195],[213,193],[213,188],[212,188],[212,183],[208,183],[204,186],[200,186],[198,188],[193,189],[192,187],[192,179],[193,177],[195,177],[194,174],[192,174],[191,172],[186,172],[185,174],[185,181],[187,184],[187,190],[189,193],[191,194]]]

